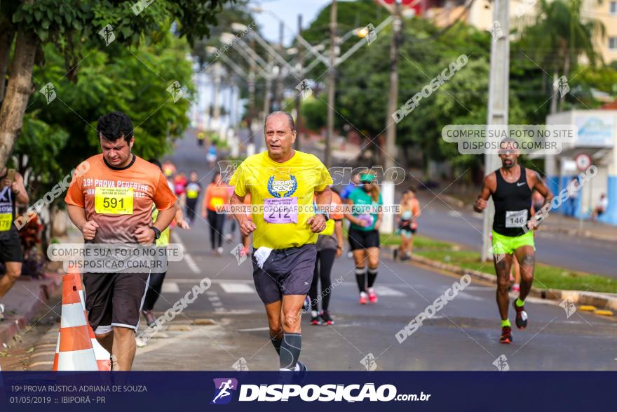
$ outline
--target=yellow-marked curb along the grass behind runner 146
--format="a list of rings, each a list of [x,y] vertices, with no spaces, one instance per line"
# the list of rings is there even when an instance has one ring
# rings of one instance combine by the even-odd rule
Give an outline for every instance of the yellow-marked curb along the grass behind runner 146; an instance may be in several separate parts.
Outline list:
[[[446,270],[447,272],[453,272],[464,276],[468,274],[470,277],[476,280],[488,281],[491,284],[497,284],[497,277],[492,274],[484,272],[478,272],[477,270],[464,269],[458,265],[452,265],[449,263],[441,263],[438,260],[424,258],[423,256],[412,255],[412,261],[422,263],[430,267]],[[576,305],[585,305],[594,307],[597,314],[604,316],[613,316],[613,311],[617,311],[617,295],[607,295],[606,293],[598,292],[585,292],[585,291],[563,291],[561,289],[541,289],[531,286],[529,295],[534,298],[541,298],[547,300],[563,301],[569,300]],[[599,309],[599,310],[597,310]]]

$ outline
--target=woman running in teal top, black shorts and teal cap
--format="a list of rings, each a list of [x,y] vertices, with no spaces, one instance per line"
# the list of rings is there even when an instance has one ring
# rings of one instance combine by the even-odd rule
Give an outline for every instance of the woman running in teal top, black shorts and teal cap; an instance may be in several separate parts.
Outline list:
[[[361,187],[356,188],[348,197],[351,213],[345,217],[351,222],[348,239],[355,261],[355,279],[360,289],[360,304],[377,303],[377,294],[373,284],[377,278],[379,266],[379,226],[381,225],[381,200],[379,186],[375,176],[369,173],[360,175]],[[366,261],[368,260],[368,272]],[[368,276],[367,276],[368,275]]]

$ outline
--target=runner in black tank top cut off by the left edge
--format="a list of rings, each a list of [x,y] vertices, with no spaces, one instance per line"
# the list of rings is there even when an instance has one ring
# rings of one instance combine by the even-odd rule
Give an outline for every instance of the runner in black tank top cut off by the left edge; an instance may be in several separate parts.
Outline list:
[[[1,299],[13,287],[22,273],[22,244],[15,220],[15,202],[28,204],[28,194],[22,175],[7,168],[0,170],[0,261],[6,272],[0,273],[0,320],[4,319],[4,305]]]

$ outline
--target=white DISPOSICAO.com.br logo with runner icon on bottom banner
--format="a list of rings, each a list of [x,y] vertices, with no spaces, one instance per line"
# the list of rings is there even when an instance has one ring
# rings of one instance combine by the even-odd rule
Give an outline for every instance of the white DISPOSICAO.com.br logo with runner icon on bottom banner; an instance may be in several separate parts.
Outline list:
[[[228,404],[231,401],[231,390],[238,388],[238,381],[231,378],[215,379],[215,397],[210,404]],[[421,392],[420,394],[397,394],[394,385],[380,385],[376,387],[374,383],[362,385],[293,385],[293,384],[273,384],[273,385],[240,385],[238,401],[289,401],[290,398],[300,399],[301,401],[428,401],[430,394]]]

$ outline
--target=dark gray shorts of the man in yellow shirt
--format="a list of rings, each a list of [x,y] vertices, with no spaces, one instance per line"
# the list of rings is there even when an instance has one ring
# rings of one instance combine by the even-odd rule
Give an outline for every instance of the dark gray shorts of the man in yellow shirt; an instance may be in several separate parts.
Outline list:
[[[313,281],[316,258],[315,244],[275,249],[261,269],[253,254],[253,280],[262,302],[267,305],[281,300],[283,295],[306,295]]]

